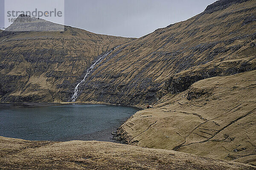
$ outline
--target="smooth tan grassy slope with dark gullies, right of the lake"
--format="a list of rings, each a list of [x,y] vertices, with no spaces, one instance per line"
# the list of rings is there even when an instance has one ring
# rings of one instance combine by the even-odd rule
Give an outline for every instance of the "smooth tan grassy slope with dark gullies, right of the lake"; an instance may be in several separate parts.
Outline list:
[[[137,112],[119,139],[256,165],[256,71],[212,77]]]

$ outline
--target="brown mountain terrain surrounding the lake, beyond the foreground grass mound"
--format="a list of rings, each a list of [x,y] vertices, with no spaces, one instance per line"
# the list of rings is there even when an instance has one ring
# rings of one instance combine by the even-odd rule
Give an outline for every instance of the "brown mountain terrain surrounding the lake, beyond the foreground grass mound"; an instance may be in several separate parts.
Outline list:
[[[0,101],[69,102],[81,82],[76,102],[154,105],[122,142],[256,165],[255,16],[255,0],[219,0],[138,39],[14,23],[0,33]]]

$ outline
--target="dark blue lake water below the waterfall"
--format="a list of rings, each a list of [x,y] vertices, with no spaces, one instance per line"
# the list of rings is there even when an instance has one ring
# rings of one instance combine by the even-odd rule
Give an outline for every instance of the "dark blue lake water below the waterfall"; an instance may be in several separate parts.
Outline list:
[[[111,132],[136,111],[136,108],[112,105],[0,109],[0,136],[26,140],[114,142]]]

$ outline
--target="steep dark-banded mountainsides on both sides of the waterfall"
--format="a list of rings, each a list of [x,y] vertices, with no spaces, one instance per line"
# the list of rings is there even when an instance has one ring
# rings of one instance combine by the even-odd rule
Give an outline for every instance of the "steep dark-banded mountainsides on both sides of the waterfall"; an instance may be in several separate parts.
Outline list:
[[[2,102],[68,102],[92,62],[118,45],[81,84],[78,102],[144,107],[200,79],[256,68],[254,0],[217,1],[135,40],[33,19],[23,29],[36,22],[41,31],[13,32],[15,22],[0,33]]]

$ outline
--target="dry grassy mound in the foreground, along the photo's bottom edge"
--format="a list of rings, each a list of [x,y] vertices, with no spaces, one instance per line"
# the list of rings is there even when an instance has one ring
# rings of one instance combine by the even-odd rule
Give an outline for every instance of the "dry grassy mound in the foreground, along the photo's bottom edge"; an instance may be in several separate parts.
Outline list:
[[[254,170],[255,167],[111,142],[40,142],[0,137],[0,169]]]

